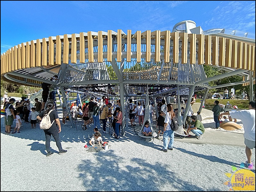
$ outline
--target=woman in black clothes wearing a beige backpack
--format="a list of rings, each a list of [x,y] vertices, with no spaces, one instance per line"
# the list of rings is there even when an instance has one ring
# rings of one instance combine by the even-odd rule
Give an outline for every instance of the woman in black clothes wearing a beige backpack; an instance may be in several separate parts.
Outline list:
[[[53,123],[52,126],[49,129],[44,129],[45,147],[46,147],[46,151],[47,151],[46,157],[49,157],[50,155],[53,154],[53,152],[50,149],[51,135],[53,136],[53,138],[56,142],[56,145],[57,145],[57,147],[60,151],[59,154],[63,154],[63,153],[67,152],[67,150],[63,150],[62,147],[61,147],[60,136],[59,136],[59,133],[61,132],[60,119],[58,117],[57,111],[54,110],[54,108],[55,108],[55,104],[53,102],[49,102],[47,104],[46,110],[37,116],[37,119],[39,119],[40,122],[41,122],[44,114],[48,114],[49,111],[53,110],[49,114],[49,116],[50,116],[50,119],[51,119],[51,123],[53,121],[55,121],[55,123]],[[59,128],[57,127],[57,125],[58,125]]]

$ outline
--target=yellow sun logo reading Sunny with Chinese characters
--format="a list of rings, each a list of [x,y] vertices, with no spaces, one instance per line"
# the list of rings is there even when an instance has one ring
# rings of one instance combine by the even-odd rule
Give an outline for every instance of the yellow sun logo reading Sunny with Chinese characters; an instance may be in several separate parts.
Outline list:
[[[244,168],[240,166],[240,168]],[[236,171],[237,168],[232,166],[232,170]],[[230,191],[255,191],[255,173],[248,169],[240,169],[235,173],[225,173],[230,178],[224,185],[230,187]]]

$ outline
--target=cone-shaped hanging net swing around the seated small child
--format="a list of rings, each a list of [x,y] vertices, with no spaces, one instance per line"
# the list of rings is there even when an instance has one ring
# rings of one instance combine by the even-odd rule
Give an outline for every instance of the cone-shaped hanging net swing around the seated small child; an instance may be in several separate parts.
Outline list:
[[[151,132],[152,132],[152,136],[144,136],[144,134],[143,134],[144,124],[145,124],[146,121],[148,121],[148,123],[149,123],[150,129],[151,129]],[[145,117],[144,117],[144,121],[142,123],[142,127],[141,127],[140,132],[138,133],[138,135],[140,137],[144,137],[144,138],[155,138],[157,136],[156,132],[154,131],[154,129],[152,127],[151,120],[150,120],[148,86],[147,86],[146,103],[145,103]]]

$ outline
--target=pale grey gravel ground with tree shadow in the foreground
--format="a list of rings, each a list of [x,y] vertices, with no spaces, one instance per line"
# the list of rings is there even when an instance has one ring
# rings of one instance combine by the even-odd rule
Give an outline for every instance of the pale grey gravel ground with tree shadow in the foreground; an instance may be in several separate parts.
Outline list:
[[[60,133],[68,152],[59,155],[52,138],[54,154],[46,157],[39,125],[23,123],[20,134],[7,135],[1,116],[1,191],[228,191],[225,173],[235,173],[232,167],[239,170],[246,160],[244,148],[227,145],[175,141],[173,151],[164,153],[161,140],[145,141],[133,127],[119,140],[101,130],[108,150],[85,149],[93,128],[68,123]]]

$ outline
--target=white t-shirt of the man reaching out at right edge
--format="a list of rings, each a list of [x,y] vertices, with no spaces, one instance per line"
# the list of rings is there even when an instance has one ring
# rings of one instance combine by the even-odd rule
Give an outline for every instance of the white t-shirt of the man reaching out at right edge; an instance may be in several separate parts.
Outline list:
[[[255,110],[229,111],[231,118],[241,119],[244,125],[244,138],[255,141]]]

